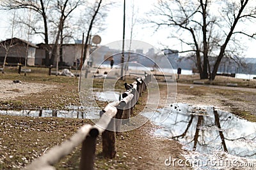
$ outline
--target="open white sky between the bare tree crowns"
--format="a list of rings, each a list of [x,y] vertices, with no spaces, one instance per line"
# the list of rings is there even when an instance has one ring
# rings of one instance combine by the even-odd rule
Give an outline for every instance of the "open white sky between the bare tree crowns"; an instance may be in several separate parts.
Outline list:
[[[111,7],[111,10],[108,13],[108,18],[106,18],[106,30],[99,33],[99,36],[102,38],[101,45],[106,45],[113,41],[122,40],[122,27],[123,27],[123,1],[115,0],[116,5]],[[131,2],[126,1],[126,39],[130,39],[130,31],[131,31]],[[145,18],[145,13],[149,12],[152,9],[153,4],[157,3],[157,0],[135,0],[134,6],[136,11],[136,18],[140,20],[141,18]],[[8,27],[8,23],[10,23],[10,11],[4,12],[0,11],[0,39],[10,38],[10,28]],[[253,26],[254,27],[254,26]],[[140,24],[139,21],[136,21],[134,26],[133,39],[145,41],[150,45],[156,46],[156,48],[163,49],[164,47],[161,45],[166,45],[172,48],[173,50],[186,50],[185,45],[181,45],[179,41],[173,41],[173,39],[168,38],[170,30],[161,30],[159,32],[154,32],[154,29],[148,27],[147,25]],[[26,39],[26,37],[22,36],[24,32],[16,31],[15,37]],[[82,38],[81,38],[82,39]],[[43,42],[42,38],[33,36],[31,39],[33,43],[41,43]],[[256,57],[256,49],[255,49],[255,40],[250,40],[244,37],[244,41],[241,43],[245,43],[248,45],[247,52],[244,53],[245,57]]]

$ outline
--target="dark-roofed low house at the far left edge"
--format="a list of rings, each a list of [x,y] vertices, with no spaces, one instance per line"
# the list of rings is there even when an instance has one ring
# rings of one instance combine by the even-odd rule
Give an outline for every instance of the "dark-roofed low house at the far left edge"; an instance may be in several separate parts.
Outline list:
[[[10,46],[6,58],[8,64],[25,64],[26,50],[28,48],[27,64],[28,66],[35,65],[35,53],[38,46],[19,38],[6,39],[0,42],[0,62],[4,62],[6,47],[8,46]]]

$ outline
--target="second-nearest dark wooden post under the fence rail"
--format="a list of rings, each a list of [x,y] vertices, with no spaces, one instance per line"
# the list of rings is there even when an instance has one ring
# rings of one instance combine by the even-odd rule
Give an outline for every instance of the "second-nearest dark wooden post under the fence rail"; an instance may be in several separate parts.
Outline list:
[[[104,110],[100,111],[100,117],[105,113]],[[108,129],[113,129],[113,131],[109,131]],[[109,122],[107,129],[102,132],[102,153],[104,157],[113,159],[116,155],[116,133],[115,133],[115,120],[111,118],[111,122]]]

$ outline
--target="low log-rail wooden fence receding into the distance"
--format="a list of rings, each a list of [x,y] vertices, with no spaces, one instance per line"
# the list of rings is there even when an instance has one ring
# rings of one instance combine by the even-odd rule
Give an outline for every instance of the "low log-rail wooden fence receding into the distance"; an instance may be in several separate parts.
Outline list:
[[[49,152],[34,160],[24,169],[55,169],[54,164],[70,154],[81,143],[79,169],[93,169],[96,139],[99,134],[102,135],[102,153],[104,157],[113,159],[116,155],[116,133],[121,131],[122,120],[129,121],[134,104],[138,101],[141,93],[147,89],[150,80],[150,74],[138,78],[132,83],[133,88],[122,94],[121,101],[109,103],[104,110],[100,111],[100,119],[97,124],[83,125],[70,139],[61,143],[60,146],[54,146]]]

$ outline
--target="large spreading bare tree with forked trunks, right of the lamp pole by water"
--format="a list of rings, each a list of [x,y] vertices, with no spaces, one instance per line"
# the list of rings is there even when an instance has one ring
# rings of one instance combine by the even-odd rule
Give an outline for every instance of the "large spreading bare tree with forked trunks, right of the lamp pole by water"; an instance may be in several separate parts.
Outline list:
[[[214,80],[223,57],[232,57],[234,53],[239,56],[239,46],[236,45],[239,45],[237,38],[241,36],[238,34],[250,38],[255,36],[252,32],[239,29],[244,22],[256,18],[255,6],[249,3],[253,2],[161,0],[151,11],[152,19],[147,22],[154,24],[156,30],[160,27],[175,29],[170,33],[172,37],[191,48],[184,52],[195,53],[200,78]],[[214,57],[212,66],[209,56]]]

